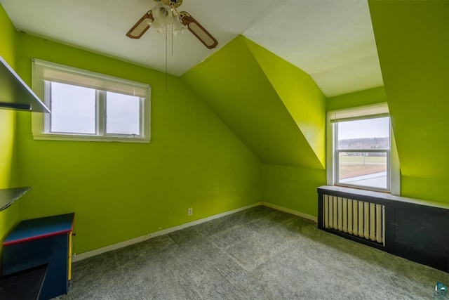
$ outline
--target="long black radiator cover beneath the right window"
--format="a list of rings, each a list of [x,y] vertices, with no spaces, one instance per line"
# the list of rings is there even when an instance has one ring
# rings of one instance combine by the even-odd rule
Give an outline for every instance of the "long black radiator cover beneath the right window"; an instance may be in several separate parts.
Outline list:
[[[327,185],[319,187],[318,194],[319,229],[449,273],[449,204]],[[333,206],[332,224],[330,224],[330,216],[326,217],[326,211],[330,211],[330,200]],[[345,222],[341,222],[340,225],[340,221],[344,219],[344,211],[349,211],[343,207],[345,200],[351,200],[352,203],[357,201],[357,204],[363,203],[361,207],[363,214],[365,214],[365,207],[368,207],[367,225],[368,228],[375,227],[374,235],[371,229],[368,229],[368,232],[365,231],[365,219],[362,224],[362,234],[350,233],[348,228],[344,228]],[[336,214],[335,203],[338,206]],[[370,223],[373,221],[370,209],[375,207],[374,216],[377,218],[376,208],[379,206],[383,211],[381,242],[378,240],[379,222],[376,220],[374,224]],[[348,216],[347,219],[349,219]]]

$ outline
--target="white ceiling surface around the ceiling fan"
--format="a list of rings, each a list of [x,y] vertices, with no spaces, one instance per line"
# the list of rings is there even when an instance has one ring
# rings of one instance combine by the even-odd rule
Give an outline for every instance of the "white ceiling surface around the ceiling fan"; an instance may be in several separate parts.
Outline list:
[[[167,58],[168,73],[176,76],[243,34],[310,74],[326,96],[383,85],[366,0],[184,0],[178,10],[213,34],[213,50],[189,31],[173,37],[173,45],[170,34],[166,39],[151,28],[141,39],[126,37],[153,0],[0,4],[17,30],[163,72]]]

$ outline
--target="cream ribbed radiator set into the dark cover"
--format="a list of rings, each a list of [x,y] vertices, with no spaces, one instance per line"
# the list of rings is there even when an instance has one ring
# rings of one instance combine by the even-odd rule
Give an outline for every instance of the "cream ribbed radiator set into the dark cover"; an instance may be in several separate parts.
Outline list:
[[[323,195],[323,227],[385,246],[385,207],[381,204]]]

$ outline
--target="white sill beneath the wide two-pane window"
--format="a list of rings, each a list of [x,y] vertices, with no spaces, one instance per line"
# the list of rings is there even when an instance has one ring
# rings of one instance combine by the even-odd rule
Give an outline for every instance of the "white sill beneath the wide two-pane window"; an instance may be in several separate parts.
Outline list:
[[[149,138],[128,138],[120,136],[77,136],[54,133],[33,133],[34,140],[39,141],[81,141],[81,142],[119,142],[119,143],[149,143]]]

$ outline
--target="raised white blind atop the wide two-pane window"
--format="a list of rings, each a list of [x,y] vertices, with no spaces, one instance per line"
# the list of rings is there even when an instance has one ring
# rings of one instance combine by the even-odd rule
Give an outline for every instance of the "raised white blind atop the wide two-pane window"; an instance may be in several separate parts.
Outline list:
[[[58,65],[44,60],[33,59],[34,79],[72,84],[90,89],[123,93],[141,98],[147,97],[149,84],[98,74],[87,70]]]

